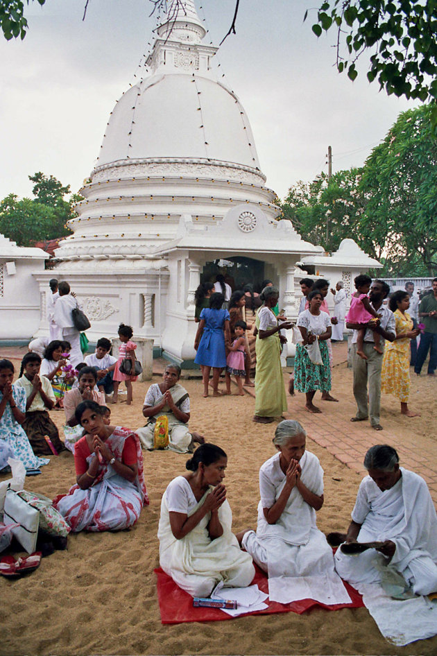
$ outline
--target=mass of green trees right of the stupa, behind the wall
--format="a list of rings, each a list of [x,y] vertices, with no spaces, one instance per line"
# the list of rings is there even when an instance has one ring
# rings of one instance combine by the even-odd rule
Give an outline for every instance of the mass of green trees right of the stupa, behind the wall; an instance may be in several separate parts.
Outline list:
[[[400,114],[362,169],[298,182],[284,218],[325,250],[354,239],[384,265],[378,275],[437,275],[437,139],[432,107]]]

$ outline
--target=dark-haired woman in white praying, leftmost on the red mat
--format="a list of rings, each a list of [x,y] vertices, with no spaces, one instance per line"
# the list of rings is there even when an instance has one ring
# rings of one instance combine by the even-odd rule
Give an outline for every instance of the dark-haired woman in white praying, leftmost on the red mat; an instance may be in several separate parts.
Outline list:
[[[232,512],[222,484],[228,458],[202,444],[171,481],[161,503],[160,565],[192,596],[207,597],[219,581],[246,587],[255,576],[252,558],[231,532]]]

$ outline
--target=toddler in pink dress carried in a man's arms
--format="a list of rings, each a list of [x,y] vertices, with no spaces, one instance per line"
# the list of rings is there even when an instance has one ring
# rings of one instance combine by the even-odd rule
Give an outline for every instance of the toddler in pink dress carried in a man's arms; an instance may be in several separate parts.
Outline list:
[[[352,295],[350,300],[350,309],[348,314],[345,317],[346,322],[348,323],[358,323],[366,324],[362,328],[357,330],[357,355],[360,356],[363,360],[367,360],[367,356],[363,351],[364,336],[366,330],[369,328],[367,325],[369,321],[374,324],[374,327],[379,326],[379,315],[376,310],[370,305],[370,300],[368,297],[368,291],[370,285],[372,284],[372,279],[366,274],[357,275],[354,279],[355,287],[357,291]],[[372,326],[370,326],[372,328]],[[373,340],[375,341],[375,346],[373,347],[378,353],[384,353],[381,348],[380,336],[375,330],[373,330]]]

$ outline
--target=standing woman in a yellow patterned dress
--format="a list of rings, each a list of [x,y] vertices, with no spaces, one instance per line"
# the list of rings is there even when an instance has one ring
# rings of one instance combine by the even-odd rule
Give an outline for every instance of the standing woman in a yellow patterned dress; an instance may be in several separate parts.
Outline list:
[[[418,417],[419,413],[409,410],[410,394],[410,340],[417,337],[420,330],[413,330],[413,320],[406,310],[410,297],[404,290],[396,291],[390,297],[388,307],[395,315],[396,336],[393,342],[386,341],[382,361],[381,391],[394,394],[400,400],[401,414]]]

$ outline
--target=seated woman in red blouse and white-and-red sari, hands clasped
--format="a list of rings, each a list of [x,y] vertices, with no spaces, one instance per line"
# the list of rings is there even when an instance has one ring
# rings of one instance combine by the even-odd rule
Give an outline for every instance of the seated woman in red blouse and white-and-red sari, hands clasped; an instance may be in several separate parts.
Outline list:
[[[53,506],[75,533],[128,528],[148,505],[139,439],[105,424],[103,407],[94,401],[79,404],[76,419],[87,431],[74,449],[77,484]]]

